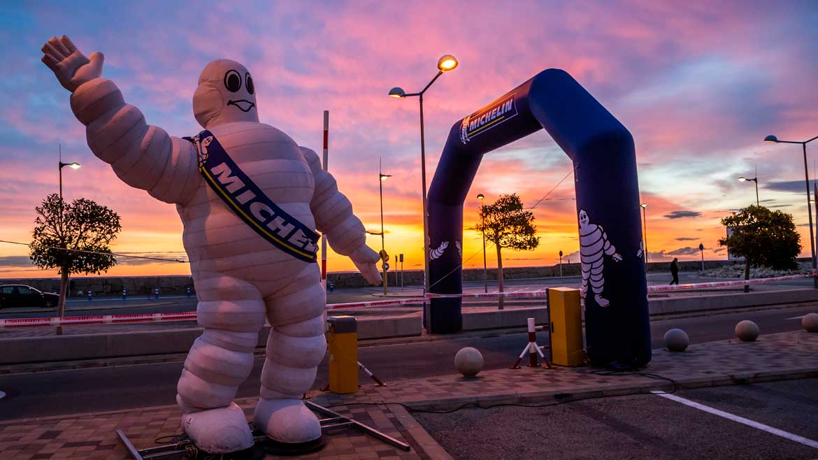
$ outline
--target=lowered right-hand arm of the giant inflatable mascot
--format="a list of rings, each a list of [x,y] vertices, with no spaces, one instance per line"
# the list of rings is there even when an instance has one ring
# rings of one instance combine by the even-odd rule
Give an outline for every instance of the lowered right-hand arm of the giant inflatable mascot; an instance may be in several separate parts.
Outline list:
[[[375,266],[380,257],[366,246],[366,231],[361,220],[353,214],[353,205],[338,191],[332,174],[321,169],[318,154],[305,147],[301,147],[301,151],[312,169],[312,175],[315,176],[315,192],[312,194],[309,207],[315,217],[318,231],[326,235],[335,252],[348,255],[349,259],[353,260],[366,281],[375,285],[380,284],[383,280]]]

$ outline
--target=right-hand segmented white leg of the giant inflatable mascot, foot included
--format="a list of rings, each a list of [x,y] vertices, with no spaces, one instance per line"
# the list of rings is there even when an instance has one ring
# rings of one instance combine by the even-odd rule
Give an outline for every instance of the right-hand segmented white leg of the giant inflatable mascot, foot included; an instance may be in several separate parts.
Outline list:
[[[302,402],[326,354],[326,293],[317,264],[267,297],[267,359],[253,423],[273,440],[303,443],[321,437],[321,424]]]

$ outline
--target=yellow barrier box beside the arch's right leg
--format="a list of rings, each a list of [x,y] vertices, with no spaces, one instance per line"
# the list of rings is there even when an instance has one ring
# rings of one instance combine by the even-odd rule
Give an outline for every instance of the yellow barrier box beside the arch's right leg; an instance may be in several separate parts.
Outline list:
[[[579,290],[569,287],[549,288],[548,313],[551,315],[551,363],[581,366],[582,310],[579,306]]]

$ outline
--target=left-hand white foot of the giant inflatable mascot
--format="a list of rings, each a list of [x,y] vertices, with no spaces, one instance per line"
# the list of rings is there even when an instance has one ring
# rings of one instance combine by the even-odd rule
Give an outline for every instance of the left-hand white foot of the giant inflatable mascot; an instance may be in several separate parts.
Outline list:
[[[245,412],[236,403],[184,414],[182,430],[197,448],[209,453],[232,453],[253,447]]]

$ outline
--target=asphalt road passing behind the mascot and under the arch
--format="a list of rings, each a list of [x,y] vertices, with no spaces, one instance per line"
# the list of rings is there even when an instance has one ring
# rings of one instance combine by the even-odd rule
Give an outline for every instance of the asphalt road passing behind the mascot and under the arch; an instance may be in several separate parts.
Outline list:
[[[663,334],[672,327],[687,331],[693,343],[728,339],[741,319],[757,322],[762,338],[765,333],[795,331],[801,327],[800,317],[816,309],[810,305],[655,320],[651,322],[653,345],[663,346]],[[481,350],[484,369],[504,368],[514,363],[527,342],[525,334],[487,332],[482,336],[433,342],[362,346],[358,356],[376,376],[389,382],[451,374],[455,372],[454,355],[465,346]],[[258,395],[262,364],[263,359],[255,360],[253,372],[239,388],[239,397]],[[0,399],[0,420],[174,404],[181,369],[182,362],[174,362],[3,375],[0,390],[8,395]],[[325,359],[318,368],[313,388],[326,384],[326,374]],[[363,374],[360,378],[362,384],[371,384]]]

